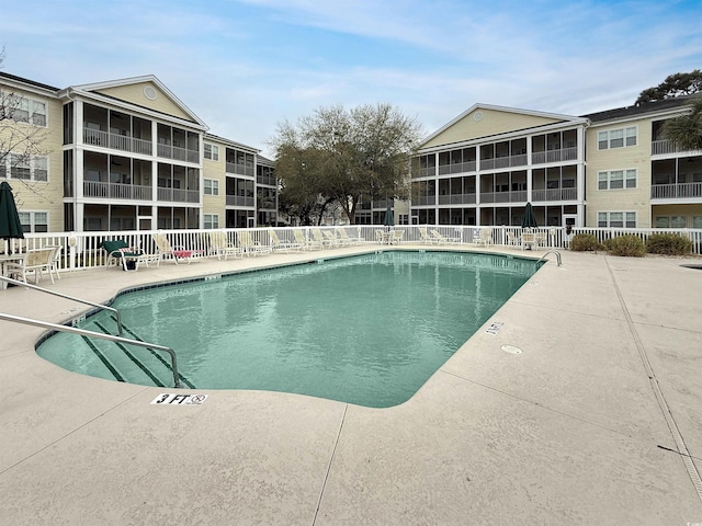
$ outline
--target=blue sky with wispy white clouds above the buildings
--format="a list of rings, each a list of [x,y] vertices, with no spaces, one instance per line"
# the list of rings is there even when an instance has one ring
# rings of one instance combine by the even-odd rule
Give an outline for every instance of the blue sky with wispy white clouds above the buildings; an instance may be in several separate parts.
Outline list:
[[[702,69],[695,1],[3,2],[3,71],[67,88],[155,75],[215,135],[389,102],[430,134],[475,103],[582,115]]]

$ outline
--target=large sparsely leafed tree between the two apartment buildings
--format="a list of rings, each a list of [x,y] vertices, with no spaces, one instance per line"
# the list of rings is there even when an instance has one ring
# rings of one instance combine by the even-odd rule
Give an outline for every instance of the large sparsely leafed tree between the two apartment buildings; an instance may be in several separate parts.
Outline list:
[[[362,199],[406,198],[408,163],[421,126],[389,104],[320,107],[296,125],[284,122],[270,145],[281,201],[291,209],[338,204],[350,222]],[[298,216],[299,217],[299,216]]]

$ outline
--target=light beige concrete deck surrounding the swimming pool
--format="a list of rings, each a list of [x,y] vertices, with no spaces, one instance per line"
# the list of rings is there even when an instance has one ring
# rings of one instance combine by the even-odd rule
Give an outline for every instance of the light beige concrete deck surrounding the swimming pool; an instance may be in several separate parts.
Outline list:
[[[41,285],[102,302],[139,283],[376,249]],[[210,395],[202,405],[154,405],[176,390],[66,371],[35,354],[43,329],[0,321],[0,523],[702,524],[702,271],[681,266],[702,261],[561,253],[389,409],[200,389],[183,392]],[[0,290],[3,313],[81,310]]]

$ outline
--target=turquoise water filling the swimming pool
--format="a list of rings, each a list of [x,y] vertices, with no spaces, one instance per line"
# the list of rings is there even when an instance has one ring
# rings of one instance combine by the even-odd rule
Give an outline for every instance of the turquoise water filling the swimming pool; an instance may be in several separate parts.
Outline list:
[[[184,386],[408,400],[539,268],[509,256],[394,251],[118,296],[125,336],[172,347]],[[116,334],[110,312],[80,327]],[[58,333],[37,353],[84,375],[172,387],[167,359]]]

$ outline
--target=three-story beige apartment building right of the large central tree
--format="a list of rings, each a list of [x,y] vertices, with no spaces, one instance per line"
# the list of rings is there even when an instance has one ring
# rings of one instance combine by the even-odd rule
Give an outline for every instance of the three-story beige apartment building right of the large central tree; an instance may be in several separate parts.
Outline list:
[[[702,152],[660,139],[689,98],[579,117],[476,104],[411,164],[412,224],[702,228]]]

